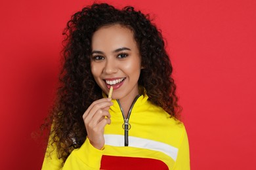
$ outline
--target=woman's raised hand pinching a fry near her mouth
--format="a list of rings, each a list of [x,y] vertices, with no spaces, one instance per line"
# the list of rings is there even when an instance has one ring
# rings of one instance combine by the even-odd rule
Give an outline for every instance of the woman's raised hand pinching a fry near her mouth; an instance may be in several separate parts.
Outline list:
[[[110,98],[99,99],[94,101],[83,114],[87,137],[95,148],[101,149],[105,144],[104,127],[111,122],[108,109],[112,105]]]

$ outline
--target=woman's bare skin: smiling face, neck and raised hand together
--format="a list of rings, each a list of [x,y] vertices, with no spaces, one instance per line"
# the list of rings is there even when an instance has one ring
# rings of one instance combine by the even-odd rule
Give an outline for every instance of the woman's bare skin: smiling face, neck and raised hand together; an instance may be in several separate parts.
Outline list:
[[[113,99],[119,99],[124,116],[139,94],[138,80],[141,61],[133,32],[121,25],[102,27],[92,39],[91,72],[98,86],[106,94],[113,86]],[[121,48],[120,48],[121,46]],[[83,114],[90,143],[98,149],[104,146],[104,127],[111,123],[111,99],[94,101]]]

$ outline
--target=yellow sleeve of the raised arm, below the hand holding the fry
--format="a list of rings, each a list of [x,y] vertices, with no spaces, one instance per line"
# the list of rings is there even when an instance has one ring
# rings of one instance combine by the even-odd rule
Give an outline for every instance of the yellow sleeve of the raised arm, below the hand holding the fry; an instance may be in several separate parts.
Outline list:
[[[102,158],[103,150],[98,150],[93,145],[91,145],[89,139],[85,140],[85,143],[80,148],[72,151],[68,159],[65,161],[62,167],[62,160],[58,159],[56,149],[54,146],[49,145],[47,147],[47,153],[45,154],[45,160],[43,161],[42,170],[70,170],[70,169],[89,169],[96,170],[100,169],[100,161]],[[50,152],[48,152],[50,151]]]

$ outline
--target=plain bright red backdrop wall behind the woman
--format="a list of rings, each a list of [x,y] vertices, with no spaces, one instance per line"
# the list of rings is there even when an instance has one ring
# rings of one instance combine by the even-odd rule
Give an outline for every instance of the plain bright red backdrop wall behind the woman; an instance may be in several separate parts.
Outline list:
[[[92,1],[0,2],[0,169],[41,169],[62,31]],[[106,1],[151,13],[167,40],[191,169],[255,169],[256,1]]]

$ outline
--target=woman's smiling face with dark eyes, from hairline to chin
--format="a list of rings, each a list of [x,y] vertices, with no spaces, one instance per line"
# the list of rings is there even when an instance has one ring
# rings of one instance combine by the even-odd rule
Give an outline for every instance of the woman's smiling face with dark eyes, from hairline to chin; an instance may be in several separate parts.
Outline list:
[[[96,83],[112,98],[125,101],[139,94],[140,54],[133,31],[119,24],[98,29],[92,38],[91,72]]]

